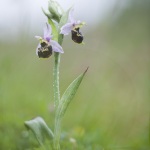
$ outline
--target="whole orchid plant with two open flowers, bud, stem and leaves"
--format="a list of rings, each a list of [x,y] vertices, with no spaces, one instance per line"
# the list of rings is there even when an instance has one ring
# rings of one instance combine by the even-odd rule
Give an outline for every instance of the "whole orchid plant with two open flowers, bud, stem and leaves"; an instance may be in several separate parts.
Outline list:
[[[60,150],[61,120],[87,72],[86,69],[80,74],[60,97],[59,66],[60,55],[64,53],[61,46],[64,35],[71,33],[74,42],[78,44],[83,43],[83,35],[79,30],[85,23],[79,20],[76,21],[73,17],[73,11],[74,9],[70,8],[65,12],[56,1],[49,0],[48,11],[43,10],[48,18],[48,23],[46,23],[44,28],[44,35],[43,37],[35,36],[39,40],[39,44],[36,48],[37,56],[39,58],[49,58],[54,53],[55,60],[53,69],[55,108],[54,131],[47,126],[44,119],[41,117],[25,121],[25,126],[34,133],[41,148],[44,150],[46,150],[44,146],[45,135],[47,135],[50,140],[51,149]]]

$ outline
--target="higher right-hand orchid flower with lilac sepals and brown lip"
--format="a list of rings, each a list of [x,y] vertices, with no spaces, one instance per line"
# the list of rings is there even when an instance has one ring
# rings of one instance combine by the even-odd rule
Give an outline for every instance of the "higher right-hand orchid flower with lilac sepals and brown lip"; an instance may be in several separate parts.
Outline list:
[[[69,12],[68,17],[68,23],[63,25],[61,27],[60,34],[68,35],[70,32],[72,34],[72,40],[76,43],[82,43],[83,41],[83,35],[81,32],[79,32],[79,29],[85,24],[84,22],[81,22],[80,20],[76,21],[73,18],[73,11],[74,9],[71,9]]]

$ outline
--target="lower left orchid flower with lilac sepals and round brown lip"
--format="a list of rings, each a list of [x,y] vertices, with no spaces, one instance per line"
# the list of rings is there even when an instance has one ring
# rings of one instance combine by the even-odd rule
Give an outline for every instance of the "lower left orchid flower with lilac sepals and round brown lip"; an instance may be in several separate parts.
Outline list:
[[[58,53],[64,53],[62,47],[58,44],[58,42],[51,40],[52,39],[51,32],[52,32],[51,26],[46,23],[43,38],[40,36],[35,36],[40,41],[36,49],[36,54],[40,58],[50,57],[53,51]]]

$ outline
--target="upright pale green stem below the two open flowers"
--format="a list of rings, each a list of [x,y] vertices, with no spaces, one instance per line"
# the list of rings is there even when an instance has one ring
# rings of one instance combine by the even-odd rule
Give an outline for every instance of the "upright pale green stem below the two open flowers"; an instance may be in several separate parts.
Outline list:
[[[59,66],[60,66],[60,53],[55,53],[55,64],[54,64],[54,105],[55,105],[55,125],[54,125],[54,150],[60,150],[59,140],[61,134],[61,120],[57,117],[57,109],[60,102],[60,91],[59,91]]]

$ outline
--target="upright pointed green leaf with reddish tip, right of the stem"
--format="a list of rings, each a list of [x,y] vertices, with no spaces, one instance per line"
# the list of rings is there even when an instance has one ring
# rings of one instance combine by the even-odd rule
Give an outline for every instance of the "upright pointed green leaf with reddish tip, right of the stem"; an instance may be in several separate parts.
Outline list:
[[[82,73],[81,75],[79,75],[66,89],[66,91],[64,92],[59,106],[58,106],[58,110],[57,110],[57,117],[61,118],[64,116],[71,100],[73,99],[73,97],[75,96],[77,89],[79,88],[82,79],[85,75],[85,73],[87,72],[88,68],[84,71],[84,73]]]

